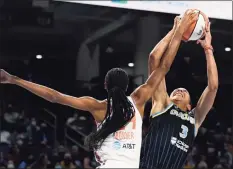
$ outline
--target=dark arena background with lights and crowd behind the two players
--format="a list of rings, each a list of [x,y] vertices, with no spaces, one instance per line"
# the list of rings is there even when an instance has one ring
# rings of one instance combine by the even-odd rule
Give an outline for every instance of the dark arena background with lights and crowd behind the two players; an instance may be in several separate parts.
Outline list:
[[[0,68],[69,95],[98,99],[106,98],[103,80],[113,67],[129,73],[128,93],[145,81],[148,54],[175,16],[36,2],[0,0]],[[220,87],[186,168],[232,168],[232,20],[211,18],[211,23]],[[195,105],[207,82],[203,49],[182,43],[166,79],[169,93],[185,87]],[[0,167],[97,165],[83,146],[84,136],[95,128],[88,112],[49,103],[13,85],[0,85],[0,101]],[[144,134],[150,107],[149,102]]]

